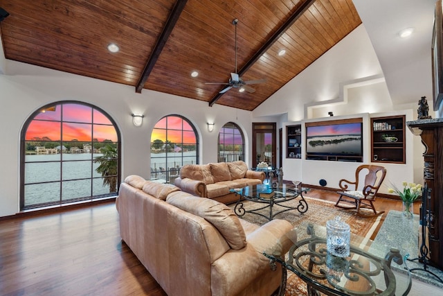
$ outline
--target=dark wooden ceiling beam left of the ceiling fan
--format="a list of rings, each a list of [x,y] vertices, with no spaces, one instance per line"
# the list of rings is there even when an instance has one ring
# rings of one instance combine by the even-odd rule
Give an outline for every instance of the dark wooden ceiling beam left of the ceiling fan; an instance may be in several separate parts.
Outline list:
[[[177,0],[174,8],[172,8],[171,13],[168,17],[168,21],[166,21],[165,27],[163,28],[163,31],[159,36],[159,40],[157,40],[154,46],[154,50],[152,51],[150,58],[147,60],[145,69],[143,69],[141,77],[138,79],[138,82],[136,84],[136,92],[138,94],[141,94],[141,90],[145,86],[148,76],[150,76],[152,69],[154,69],[156,62],[159,59],[160,53],[161,51],[163,51],[163,47],[168,41],[168,38],[172,30],[174,29],[174,26],[177,23],[177,20],[179,19],[183,8],[185,8],[186,6],[186,2],[188,2],[188,0]]]

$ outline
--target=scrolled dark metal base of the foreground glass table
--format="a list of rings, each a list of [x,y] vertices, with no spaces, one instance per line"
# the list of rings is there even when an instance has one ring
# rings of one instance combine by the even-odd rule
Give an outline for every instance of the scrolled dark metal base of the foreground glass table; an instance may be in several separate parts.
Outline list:
[[[282,259],[282,255],[278,252],[267,254],[265,251],[264,256],[271,260],[271,266],[275,266],[275,262],[278,262],[283,269],[291,270],[305,281],[309,296],[320,295],[319,293],[361,296],[396,295],[399,293],[396,290],[396,277],[390,269],[392,260],[399,265],[404,263],[399,250],[391,248],[385,258],[381,259],[368,251],[351,245],[351,256],[338,257],[327,252],[326,239],[316,236],[313,225],[308,225],[307,234],[309,234],[309,238],[302,239],[292,245],[287,261]],[[374,279],[377,276],[383,278],[382,284],[377,283]],[[408,294],[412,284],[409,271],[408,280],[402,295]],[[286,278],[282,279],[280,295],[284,295],[286,281]],[[359,284],[347,286],[348,282]],[[364,288],[361,289],[361,287]]]

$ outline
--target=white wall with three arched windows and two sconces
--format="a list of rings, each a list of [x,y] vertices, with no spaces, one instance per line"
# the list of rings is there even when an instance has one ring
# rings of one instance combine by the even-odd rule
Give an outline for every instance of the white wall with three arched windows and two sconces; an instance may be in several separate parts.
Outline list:
[[[232,121],[246,137],[246,159],[251,163],[251,112],[192,99],[179,98],[134,87],[119,85],[69,73],[6,60],[8,75],[0,73],[0,216],[19,211],[19,141],[26,119],[48,103],[64,100],[84,101],[105,110],[122,135],[122,176],[150,177],[150,136],[161,117],[180,114],[197,128],[200,139],[200,163],[217,162],[217,136],[221,126]],[[132,113],[145,115],[143,125],[132,124]],[[206,123],[214,122],[213,132]]]

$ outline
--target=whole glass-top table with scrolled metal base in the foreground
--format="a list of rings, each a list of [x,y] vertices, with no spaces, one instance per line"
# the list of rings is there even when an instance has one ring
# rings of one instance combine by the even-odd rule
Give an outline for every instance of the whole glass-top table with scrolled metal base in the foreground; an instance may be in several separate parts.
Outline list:
[[[352,225],[351,225],[352,227]],[[288,250],[284,254],[284,248]],[[411,286],[408,254],[382,243],[351,234],[350,255],[327,252],[326,227],[303,222],[264,251],[275,270],[282,266],[280,294],[284,295],[287,270],[307,284],[309,295],[408,295]]]

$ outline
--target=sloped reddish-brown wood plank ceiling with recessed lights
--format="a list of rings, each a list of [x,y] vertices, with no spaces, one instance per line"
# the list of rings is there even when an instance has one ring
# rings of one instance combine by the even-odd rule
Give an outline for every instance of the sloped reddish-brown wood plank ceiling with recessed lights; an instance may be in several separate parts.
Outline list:
[[[0,7],[10,13],[0,23],[10,60],[243,110],[361,24],[352,0],[0,0]],[[253,93],[221,95],[224,85],[205,82],[228,82],[235,71],[233,19],[241,78],[266,82],[250,85]],[[111,42],[118,53],[107,51]]]

